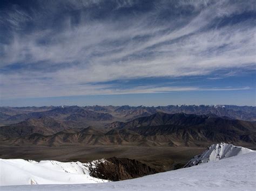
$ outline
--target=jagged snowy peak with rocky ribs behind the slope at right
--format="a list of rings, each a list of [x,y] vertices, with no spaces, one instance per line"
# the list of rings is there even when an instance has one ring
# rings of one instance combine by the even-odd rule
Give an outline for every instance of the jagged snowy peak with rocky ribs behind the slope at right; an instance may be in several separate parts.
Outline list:
[[[193,159],[187,162],[184,167],[191,167],[206,162],[217,161],[228,157],[234,157],[240,154],[246,154],[252,152],[252,150],[234,146],[227,143],[213,144],[207,148],[207,150],[199,155],[196,155]]]

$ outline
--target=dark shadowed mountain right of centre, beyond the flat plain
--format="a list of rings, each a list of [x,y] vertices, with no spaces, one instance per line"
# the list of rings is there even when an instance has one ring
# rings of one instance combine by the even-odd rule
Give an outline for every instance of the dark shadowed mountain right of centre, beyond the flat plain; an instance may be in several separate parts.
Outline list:
[[[256,123],[209,117],[206,115],[164,114],[158,112],[148,117],[140,117],[131,122],[114,123],[115,129],[107,135],[119,137],[143,136],[145,144],[200,145],[204,142],[228,142],[254,145],[256,143]],[[146,137],[146,138],[145,138]]]

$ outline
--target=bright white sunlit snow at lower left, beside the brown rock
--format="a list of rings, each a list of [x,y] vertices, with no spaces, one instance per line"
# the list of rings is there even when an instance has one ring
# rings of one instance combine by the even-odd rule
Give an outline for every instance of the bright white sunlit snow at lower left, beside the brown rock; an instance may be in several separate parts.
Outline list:
[[[95,167],[98,162],[106,161],[96,160],[83,164],[53,160],[36,162],[0,159],[0,186],[107,182],[90,176],[89,168]]]

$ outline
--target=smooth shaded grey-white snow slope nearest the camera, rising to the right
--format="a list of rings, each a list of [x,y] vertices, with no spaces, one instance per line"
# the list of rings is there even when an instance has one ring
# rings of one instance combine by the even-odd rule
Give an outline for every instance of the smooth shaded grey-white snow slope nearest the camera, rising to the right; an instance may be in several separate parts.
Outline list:
[[[24,185],[4,190],[255,190],[256,152],[142,178],[83,185]]]

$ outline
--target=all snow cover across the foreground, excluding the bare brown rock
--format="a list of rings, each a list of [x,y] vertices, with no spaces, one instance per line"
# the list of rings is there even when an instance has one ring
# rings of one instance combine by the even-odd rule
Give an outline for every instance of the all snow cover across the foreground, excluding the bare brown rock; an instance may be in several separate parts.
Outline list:
[[[214,144],[188,162],[191,168],[109,183],[90,176],[98,164],[109,162],[104,159],[84,164],[0,159],[0,190],[254,190],[255,157],[256,152],[248,148]],[[194,166],[201,163],[206,164]]]

